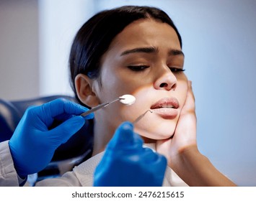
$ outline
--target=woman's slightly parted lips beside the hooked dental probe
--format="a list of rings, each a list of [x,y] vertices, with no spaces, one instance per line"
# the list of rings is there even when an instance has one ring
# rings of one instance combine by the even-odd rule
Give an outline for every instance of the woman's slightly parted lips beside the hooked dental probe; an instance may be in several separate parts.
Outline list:
[[[179,107],[180,104],[179,101],[177,101],[177,98],[162,98],[154,103],[150,109],[162,118],[173,119],[177,117],[177,108]]]

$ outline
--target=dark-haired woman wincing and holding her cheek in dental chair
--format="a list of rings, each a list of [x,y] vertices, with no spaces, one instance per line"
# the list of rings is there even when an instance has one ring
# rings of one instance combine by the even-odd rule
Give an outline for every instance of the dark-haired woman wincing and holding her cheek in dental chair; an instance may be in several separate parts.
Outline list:
[[[94,168],[115,129],[150,109],[153,113],[146,113],[134,128],[148,146],[167,157],[163,185],[234,185],[198,151],[195,104],[183,72],[184,57],[180,34],[164,11],[123,6],[89,19],[71,47],[76,98],[94,107],[131,94],[136,103],[115,103],[95,112],[92,158],[60,179],[39,184],[92,185]]]

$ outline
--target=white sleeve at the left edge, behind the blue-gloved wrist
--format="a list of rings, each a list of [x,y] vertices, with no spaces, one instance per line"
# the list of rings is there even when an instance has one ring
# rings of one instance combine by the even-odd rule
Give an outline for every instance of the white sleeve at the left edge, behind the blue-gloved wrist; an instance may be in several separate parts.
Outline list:
[[[0,143],[0,186],[19,187],[17,172],[9,149],[9,141]]]

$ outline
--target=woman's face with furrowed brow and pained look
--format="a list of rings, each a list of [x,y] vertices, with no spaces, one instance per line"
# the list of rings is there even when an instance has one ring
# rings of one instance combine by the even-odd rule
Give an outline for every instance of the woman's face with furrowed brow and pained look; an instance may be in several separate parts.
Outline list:
[[[144,139],[167,139],[174,134],[187,94],[187,78],[182,72],[184,55],[177,34],[169,24],[140,19],[118,34],[100,60],[100,85],[94,93],[100,103],[131,94],[136,102],[125,106],[116,102],[95,113],[99,124],[113,132],[123,121],[136,123],[136,133]]]

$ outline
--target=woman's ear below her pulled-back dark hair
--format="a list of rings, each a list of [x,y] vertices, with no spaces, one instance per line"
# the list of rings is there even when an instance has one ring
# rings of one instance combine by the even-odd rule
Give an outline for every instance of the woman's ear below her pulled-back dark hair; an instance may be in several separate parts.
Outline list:
[[[92,87],[93,80],[88,78],[87,75],[78,74],[75,78],[76,93],[79,100],[89,107],[99,105],[97,95],[94,93]]]

